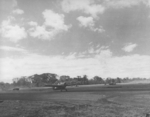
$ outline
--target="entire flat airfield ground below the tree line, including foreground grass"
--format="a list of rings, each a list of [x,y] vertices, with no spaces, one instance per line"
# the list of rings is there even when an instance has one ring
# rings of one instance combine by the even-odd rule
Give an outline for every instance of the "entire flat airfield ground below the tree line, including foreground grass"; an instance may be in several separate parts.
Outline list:
[[[146,117],[150,83],[79,85],[68,91],[22,88],[0,92],[0,117]]]

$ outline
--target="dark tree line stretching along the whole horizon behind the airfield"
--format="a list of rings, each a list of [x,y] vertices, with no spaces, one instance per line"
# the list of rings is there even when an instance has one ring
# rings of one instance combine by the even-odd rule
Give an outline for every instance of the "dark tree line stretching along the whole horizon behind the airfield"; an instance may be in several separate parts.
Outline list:
[[[145,78],[102,78],[100,76],[94,76],[93,78],[88,78],[87,75],[77,76],[71,78],[67,75],[58,76],[54,73],[43,73],[34,74],[32,76],[22,76],[13,78],[12,83],[0,82],[0,90],[10,89],[12,87],[42,87],[45,84],[54,84],[57,82],[66,82],[68,85],[90,85],[90,84],[111,84],[114,83],[124,83],[134,80],[144,80]]]

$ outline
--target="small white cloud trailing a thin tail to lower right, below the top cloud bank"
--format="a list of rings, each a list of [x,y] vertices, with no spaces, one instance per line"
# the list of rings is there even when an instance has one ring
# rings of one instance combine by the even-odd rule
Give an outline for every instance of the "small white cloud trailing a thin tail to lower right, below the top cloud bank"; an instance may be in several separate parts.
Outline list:
[[[105,31],[102,26],[100,26],[99,28],[95,28],[95,22],[94,22],[93,17],[79,16],[77,20],[80,22],[81,27],[89,27],[90,30],[94,32],[97,31],[97,32],[102,33]]]

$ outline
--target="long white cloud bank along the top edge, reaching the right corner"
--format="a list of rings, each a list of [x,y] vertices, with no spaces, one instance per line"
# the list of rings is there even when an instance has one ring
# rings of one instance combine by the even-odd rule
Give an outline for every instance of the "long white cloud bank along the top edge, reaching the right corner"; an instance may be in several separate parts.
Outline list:
[[[150,0],[105,0],[96,3],[95,0],[63,0],[61,3],[64,12],[81,10],[85,14],[91,15],[96,18],[98,14],[102,14],[108,8],[125,8],[143,3],[150,6]]]

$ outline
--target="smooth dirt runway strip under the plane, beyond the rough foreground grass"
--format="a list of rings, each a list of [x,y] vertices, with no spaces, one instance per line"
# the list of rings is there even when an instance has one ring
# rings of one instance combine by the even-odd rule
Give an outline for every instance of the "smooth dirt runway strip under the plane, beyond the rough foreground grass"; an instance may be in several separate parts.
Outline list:
[[[68,92],[53,91],[51,88],[31,88],[19,91],[6,91],[0,93],[0,100],[51,100],[51,99],[83,99],[96,100],[95,95],[92,98],[88,94],[105,94],[115,92],[135,92],[150,91],[150,85],[116,85],[116,86],[79,86],[68,87]]]

